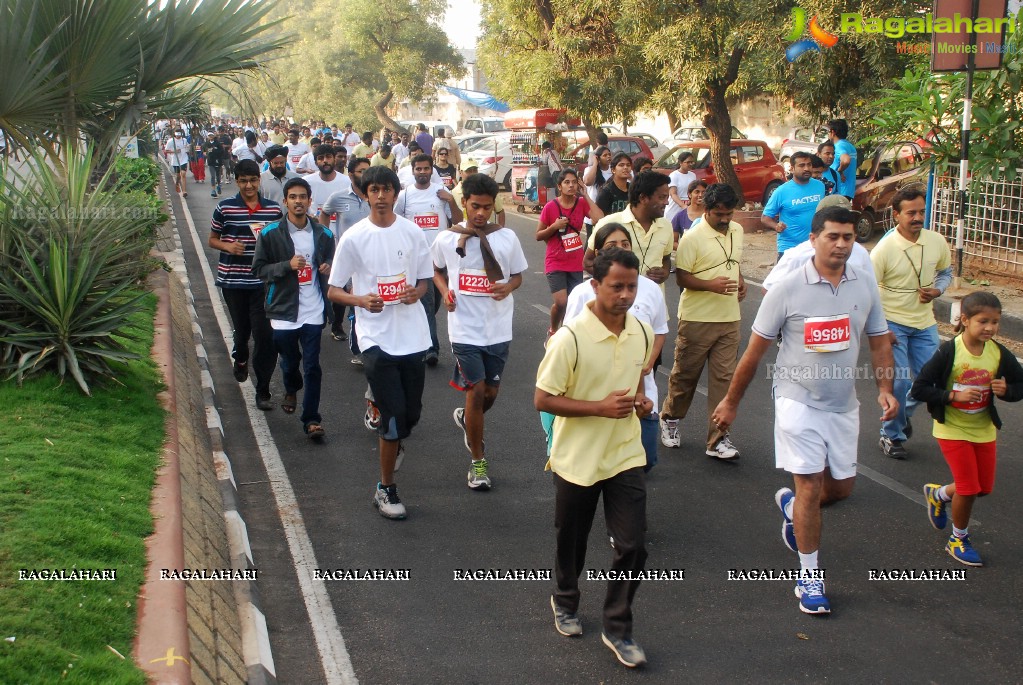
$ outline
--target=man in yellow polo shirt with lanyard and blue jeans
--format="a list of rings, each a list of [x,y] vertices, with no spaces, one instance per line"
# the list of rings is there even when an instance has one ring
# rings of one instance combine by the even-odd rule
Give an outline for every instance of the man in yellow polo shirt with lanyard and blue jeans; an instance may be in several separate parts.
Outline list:
[[[903,443],[913,435],[909,418],[917,408],[909,389],[938,349],[933,301],[952,281],[948,242],[940,233],[923,230],[926,214],[927,194],[923,189],[899,190],[892,197],[895,230],[871,250],[895,357],[893,394],[898,400],[898,413],[881,422],[880,440],[881,451],[892,459],[908,456]]]

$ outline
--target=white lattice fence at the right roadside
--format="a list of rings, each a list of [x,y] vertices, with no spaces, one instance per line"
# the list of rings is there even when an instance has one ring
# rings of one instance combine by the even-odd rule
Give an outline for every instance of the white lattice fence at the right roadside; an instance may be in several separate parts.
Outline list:
[[[965,267],[986,273],[1023,276],[1023,170],[1012,183],[973,176],[969,184]],[[959,166],[949,165],[934,180],[931,228],[954,248],[959,213]]]

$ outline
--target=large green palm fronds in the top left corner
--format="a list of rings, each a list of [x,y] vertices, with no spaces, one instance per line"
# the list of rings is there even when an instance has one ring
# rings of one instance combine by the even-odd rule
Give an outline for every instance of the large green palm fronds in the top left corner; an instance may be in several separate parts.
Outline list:
[[[18,146],[102,161],[157,110],[189,108],[211,79],[256,71],[287,37],[255,0],[3,0],[0,127]]]

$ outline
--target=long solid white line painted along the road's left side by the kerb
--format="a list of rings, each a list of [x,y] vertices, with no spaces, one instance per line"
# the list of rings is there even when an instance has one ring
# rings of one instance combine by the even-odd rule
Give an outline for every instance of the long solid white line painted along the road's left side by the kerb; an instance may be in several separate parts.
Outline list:
[[[185,223],[188,224],[192,245],[198,256],[203,276],[206,278],[206,286],[211,295],[213,313],[217,318],[224,348],[229,356],[233,345],[230,319],[224,309],[223,302],[217,294],[213,271],[206,259],[204,245],[195,230],[195,224],[192,223],[188,203],[183,197],[180,200],[184,208],[184,219]],[[284,529],[287,549],[295,561],[295,572],[299,577],[302,599],[305,602],[306,611],[309,613],[313,638],[316,640],[316,649],[319,651],[320,665],[325,676],[323,682],[328,685],[356,685],[359,681],[355,677],[355,669],[352,667],[352,659],[345,646],[345,638],[341,635],[341,627],[338,625],[338,616],[335,615],[333,606],[330,604],[330,597],[326,593],[326,586],[313,579],[313,570],[319,567],[313,552],[313,543],[309,539],[305,522],[302,520],[295,490],[292,488],[291,481],[287,480],[287,471],[284,469],[284,463],[280,459],[277,446],[273,442],[266,417],[263,416],[262,411],[256,409],[256,389],[252,383],[239,383],[238,387],[244,399],[249,423],[256,437],[256,445],[259,447],[259,453],[263,459],[263,467],[266,468],[270,481],[270,490],[277,506],[277,515]],[[261,650],[268,647],[269,645],[260,645]]]

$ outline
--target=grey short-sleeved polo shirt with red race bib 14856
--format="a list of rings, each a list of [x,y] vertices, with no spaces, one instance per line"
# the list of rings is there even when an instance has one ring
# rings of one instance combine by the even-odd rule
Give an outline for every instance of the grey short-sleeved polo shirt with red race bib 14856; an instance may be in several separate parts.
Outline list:
[[[838,287],[821,278],[809,260],[764,295],[753,332],[782,348],[772,371],[775,397],[815,409],[856,409],[856,360],[860,336],[885,335],[888,323],[872,279],[848,264]]]

